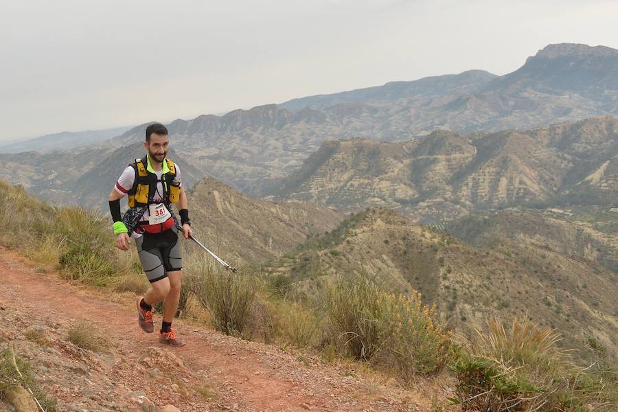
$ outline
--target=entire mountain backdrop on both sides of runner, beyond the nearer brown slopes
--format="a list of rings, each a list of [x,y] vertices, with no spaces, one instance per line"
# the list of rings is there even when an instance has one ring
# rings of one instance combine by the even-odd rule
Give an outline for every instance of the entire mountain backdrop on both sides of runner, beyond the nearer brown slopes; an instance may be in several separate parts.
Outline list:
[[[615,118],[492,130],[617,115],[617,84],[618,50],[549,45],[505,76],[468,71],[393,82],[168,128],[187,182],[208,175],[253,197],[345,211],[392,207],[423,222],[530,202],[608,205]],[[139,155],[145,126],[100,146],[0,155],[0,168],[51,201],[100,205],[95,187],[108,187],[107,174]]]

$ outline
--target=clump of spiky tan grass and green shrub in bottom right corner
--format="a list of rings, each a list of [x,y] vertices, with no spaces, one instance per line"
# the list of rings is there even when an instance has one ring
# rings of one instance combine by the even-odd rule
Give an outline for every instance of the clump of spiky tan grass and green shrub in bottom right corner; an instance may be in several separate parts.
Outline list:
[[[453,370],[464,411],[588,411],[615,406],[616,386],[574,367],[558,334],[525,319],[488,321]],[[613,388],[613,389],[612,389]]]

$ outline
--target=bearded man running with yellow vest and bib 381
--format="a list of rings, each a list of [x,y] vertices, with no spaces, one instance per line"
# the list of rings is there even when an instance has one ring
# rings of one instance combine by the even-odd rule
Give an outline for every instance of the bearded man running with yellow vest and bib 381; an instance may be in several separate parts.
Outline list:
[[[147,154],[129,165],[109,194],[109,210],[114,220],[116,246],[128,250],[133,233],[141,267],[146,272],[150,288],[137,299],[137,321],[144,332],[152,333],[152,305],[163,301],[163,321],[159,342],[183,346],[185,340],[172,329],[172,319],[178,310],[181,291],[182,255],[174,215],[170,208],[177,203],[183,236],[193,234],[187,196],[181,185],[181,172],[168,154],[168,129],[162,124],[146,128],[144,148]],[[129,210],[125,219],[120,215],[120,199],[128,194]],[[141,217],[140,217],[141,216]],[[127,219],[128,218],[128,219]]]

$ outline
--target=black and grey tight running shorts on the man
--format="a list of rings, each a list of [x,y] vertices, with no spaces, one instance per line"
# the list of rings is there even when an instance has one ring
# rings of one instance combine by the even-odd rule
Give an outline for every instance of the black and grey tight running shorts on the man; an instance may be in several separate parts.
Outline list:
[[[172,227],[161,233],[144,233],[135,239],[141,267],[148,282],[153,283],[168,277],[168,272],[183,268],[181,244],[178,229]]]

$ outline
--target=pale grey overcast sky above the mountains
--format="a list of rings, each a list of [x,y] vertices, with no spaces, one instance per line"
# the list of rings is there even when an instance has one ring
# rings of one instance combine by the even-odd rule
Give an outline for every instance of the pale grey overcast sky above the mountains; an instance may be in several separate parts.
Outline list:
[[[2,140],[618,48],[618,1],[0,0]]]

